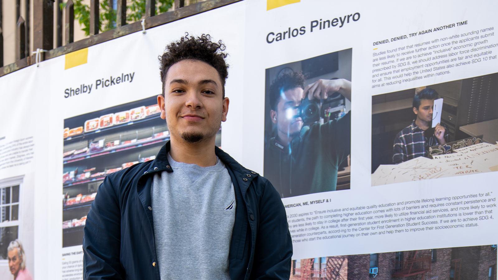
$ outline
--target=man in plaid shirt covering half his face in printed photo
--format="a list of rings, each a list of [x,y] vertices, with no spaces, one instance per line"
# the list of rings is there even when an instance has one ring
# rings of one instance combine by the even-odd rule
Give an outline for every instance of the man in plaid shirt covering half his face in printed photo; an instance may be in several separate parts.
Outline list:
[[[394,164],[419,156],[427,157],[430,146],[446,144],[448,141],[446,129],[440,124],[437,124],[434,130],[431,128],[432,107],[434,100],[438,98],[438,93],[431,88],[425,88],[415,94],[412,103],[415,120],[394,138],[392,147]]]

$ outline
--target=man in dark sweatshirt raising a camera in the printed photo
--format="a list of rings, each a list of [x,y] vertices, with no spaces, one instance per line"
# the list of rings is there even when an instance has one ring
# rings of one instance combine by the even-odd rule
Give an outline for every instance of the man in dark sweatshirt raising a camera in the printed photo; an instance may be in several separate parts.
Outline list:
[[[339,92],[351,100],[351,82],[318,80],[304,87],[298,72],[277,77],[270,86],[270,118],[276,136],[265,148],[264,175],[281,197],[333,191],[339,165],[351,149],[351,112],[339,121],[304,126],[297,114],[303,98],[326,100]]]

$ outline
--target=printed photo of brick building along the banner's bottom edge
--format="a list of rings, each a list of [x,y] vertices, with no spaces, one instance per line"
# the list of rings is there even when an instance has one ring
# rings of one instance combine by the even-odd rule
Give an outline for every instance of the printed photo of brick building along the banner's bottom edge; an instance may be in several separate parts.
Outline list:
[[[290,280],[496,280],[497,246],[293,260]]]

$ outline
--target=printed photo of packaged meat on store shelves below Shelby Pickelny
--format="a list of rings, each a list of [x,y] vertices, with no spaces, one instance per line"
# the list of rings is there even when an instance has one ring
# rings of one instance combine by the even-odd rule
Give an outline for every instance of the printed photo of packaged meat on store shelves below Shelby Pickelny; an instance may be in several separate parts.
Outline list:
[[[154,159],[169,140],[160,112],[154,96],[64,121],[63,247],[83,243],[86,217],[104,178]]]

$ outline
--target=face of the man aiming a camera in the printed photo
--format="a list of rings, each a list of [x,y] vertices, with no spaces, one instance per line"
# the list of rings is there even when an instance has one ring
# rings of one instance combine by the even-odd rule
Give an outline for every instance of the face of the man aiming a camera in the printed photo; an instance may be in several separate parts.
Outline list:
[[[296,117],[297,109],[303,99],[303,89],[300,87],[286,90],[280,94],[280,100],[277,103],[277,110],[271,111],[271,121],[277,125],[277,130],[287,135],[287,137],[296,136],[303,127],[301,117]]]

